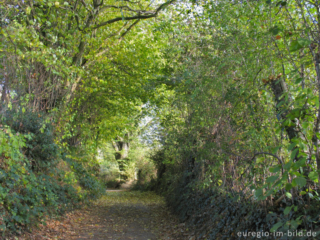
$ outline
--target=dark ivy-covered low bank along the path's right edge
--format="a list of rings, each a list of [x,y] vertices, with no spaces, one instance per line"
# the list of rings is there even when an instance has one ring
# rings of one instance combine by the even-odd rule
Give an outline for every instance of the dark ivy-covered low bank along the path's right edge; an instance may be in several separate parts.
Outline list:
[[[162,151],[160,149],[153,156],[158,163],[164,160],[161,159],[164,157]],[[295,205],[292,206],[292,202],[285,200],[267,206],[253,201],[242,192],[228,193],[217,188],[196,189],[195,179],[190,172],[185,170],[180,174],[173,174],[172,171],[167,166],[167,171],[152,181],[152,189],[165,196],[172,212],[181,221],[194,226],[196,235],[200,238],[244,239],[237,235],[238,232],[260,232],[261,235],[262,232],[269,233],[275,224],[278,227],[275,230],[283,232],[283,237],[279,239],[303,239],[285,235],[288,230],[294,229],[307,229],[320,234],[319,212],[315,211],[320,208],[320,204],[313,201],[309,206],[304,206],[302,203],[308,201],[308,197],[293,199],[296,208]],[[284,211],[287,207],[290,209]],[[245,239],[253,240],[257,236],[247,236]],[[263,236],[263,239],[274,237]]]

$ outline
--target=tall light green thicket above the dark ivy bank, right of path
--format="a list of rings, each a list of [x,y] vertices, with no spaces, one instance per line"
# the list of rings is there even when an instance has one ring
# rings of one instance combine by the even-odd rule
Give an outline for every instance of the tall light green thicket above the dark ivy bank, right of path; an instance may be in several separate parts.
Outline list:
[[[163,74],[174,91],[161,109],[164,153],[155,161],[165,169],[158,189],[175,208],[184,199],[173,193],[183,186],[186,199],[214,189],[245,193],[267,209],[292,201],[299,210],[285,229],[319,205],[318,17],[304,1],[267,2],[198,3],[203,14],[191,7],[184,14],[195,18],[172,22]]]

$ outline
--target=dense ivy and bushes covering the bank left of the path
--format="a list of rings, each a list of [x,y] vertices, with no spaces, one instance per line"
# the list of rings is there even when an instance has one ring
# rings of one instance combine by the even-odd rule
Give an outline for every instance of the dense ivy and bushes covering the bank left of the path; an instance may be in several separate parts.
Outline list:
[[[24,120],[24,128],[17,128],[14,120],[14,130],[3,125],[0,128],[2,235],[19,234],[24,226],[61,214],[101,193],[94,174],[81,163],[65,156],[61,159],[49,128],[36,132],[30,118]]]

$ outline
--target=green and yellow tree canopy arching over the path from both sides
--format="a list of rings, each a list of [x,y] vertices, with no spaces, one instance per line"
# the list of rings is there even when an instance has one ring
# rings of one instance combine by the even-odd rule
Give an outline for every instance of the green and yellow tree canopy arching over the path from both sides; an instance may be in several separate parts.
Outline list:
[[[34,179],[59,166],[72,185],[72,169],[98,169],[106,145],[124,169],[130,143],[139,155],[152,133],[146,158],[157,180],[149,188],[183,209],[182,219],[194,214],[184,208],[188,199],[194,206],[203,194],[219,205],[213,189],[226,202],[262,206],[257,228],[317,228],[319,7],[304,0],[5,0],[2,159],[15,159],[4,161],[20,170],[23,159]]]

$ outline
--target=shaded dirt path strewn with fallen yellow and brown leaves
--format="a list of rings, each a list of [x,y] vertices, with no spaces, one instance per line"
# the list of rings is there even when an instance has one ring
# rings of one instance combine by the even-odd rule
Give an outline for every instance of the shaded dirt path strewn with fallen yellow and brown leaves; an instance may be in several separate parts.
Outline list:
[[[47,240],[191,240],[153,192],[107,191],[99,200],[39,232]],[[57,226],[58,225],[58,226]],[[45,234],[44,234],[45,233]],[[26,238],[28,239],[28,238]]]

